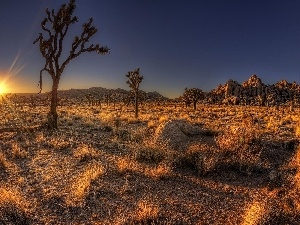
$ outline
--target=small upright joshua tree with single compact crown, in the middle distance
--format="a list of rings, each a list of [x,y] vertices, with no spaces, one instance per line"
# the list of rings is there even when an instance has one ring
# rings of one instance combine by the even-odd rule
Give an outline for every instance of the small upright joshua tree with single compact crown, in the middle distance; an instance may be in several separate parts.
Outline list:
[[[134,71],[129,71],[126,74],[126,77],[128,77],[129,79],[128,81],[126,81],[126,83],[129,84],[129,87],[134,92],[135,118],[138,118],[139,116],[138,93],[139,93],[140,83],[142,82],[144,77],[140,75],[140,68],[137,68]]]

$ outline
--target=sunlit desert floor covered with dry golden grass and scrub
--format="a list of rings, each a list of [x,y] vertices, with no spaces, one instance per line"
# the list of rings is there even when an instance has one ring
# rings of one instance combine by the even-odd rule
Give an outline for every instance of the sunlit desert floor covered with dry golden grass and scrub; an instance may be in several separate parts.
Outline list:
[[[0,111],[0,224],[300,224],[298,108]]]

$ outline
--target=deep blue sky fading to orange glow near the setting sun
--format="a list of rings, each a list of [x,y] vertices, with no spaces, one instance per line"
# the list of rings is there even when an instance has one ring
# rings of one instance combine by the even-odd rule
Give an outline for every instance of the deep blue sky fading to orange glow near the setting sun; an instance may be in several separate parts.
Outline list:
[[[0,84],[7,91],[37,93],[45,59],[33,41],[45,9],[66,1],[0,0]],[[128,71],[140,68],[140,88],[178,97],[184,88],[209,91],[227,80],[257,74],[265,84],[300,82],[299,0],[77,0],[64,44],[90,17],[98,32],[90,43],[109,55],[82,54],[64,70],[59,89],[124,88]],[[44,73],[43,91],[52,80]]]

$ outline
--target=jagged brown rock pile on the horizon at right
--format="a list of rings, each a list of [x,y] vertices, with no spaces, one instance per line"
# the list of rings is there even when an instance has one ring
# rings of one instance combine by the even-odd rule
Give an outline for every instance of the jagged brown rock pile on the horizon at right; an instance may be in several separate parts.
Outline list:
[[[300,85],[286,80],[266,85],[252,75],[243,84],[228,80],[224,85],[207,93],[206,101],[214,104],[275,106],[300,104]]]

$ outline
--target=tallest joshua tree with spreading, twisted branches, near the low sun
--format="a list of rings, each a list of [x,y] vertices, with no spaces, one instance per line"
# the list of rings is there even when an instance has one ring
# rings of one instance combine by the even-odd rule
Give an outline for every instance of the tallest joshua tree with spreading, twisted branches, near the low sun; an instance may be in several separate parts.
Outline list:
[[[50,130],[57,129],[57,89],[66,65],[84,52],[97,52],[102,55],[109,53],[106,46],[100,46],[99,44],[86,46],[89,39],[97,32],[97,29],[92,25],[93,18],[90,18],[88,23],[82,25],[82,33],[74,37],[67,57],[64,60],[62,59],[63,45],[65,45],[63,41],[69,27],[78,22],[77,17],[73,16],[75,8],[75,0],[70,0],[68,4],[63,4],[57,12],[54,9],[52,11],[46,9],[47,16],[41,23],[44,34],[40,33],[39,37],[33,42],[33,44],[39,42],[40,52],[46,61],[44,68],[40,71],[40,92],[44,71],[50,74],[53,81],[50,112],[48,113],[48,129]]]

